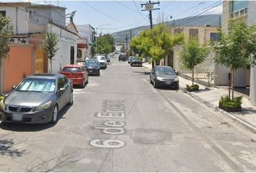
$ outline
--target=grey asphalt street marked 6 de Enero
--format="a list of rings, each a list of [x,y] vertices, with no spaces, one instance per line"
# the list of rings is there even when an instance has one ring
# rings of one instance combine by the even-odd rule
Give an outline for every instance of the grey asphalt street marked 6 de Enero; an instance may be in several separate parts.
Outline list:
[[[56,125],[0,124],[1,172],[254,172],[256,137],[111,58]]]

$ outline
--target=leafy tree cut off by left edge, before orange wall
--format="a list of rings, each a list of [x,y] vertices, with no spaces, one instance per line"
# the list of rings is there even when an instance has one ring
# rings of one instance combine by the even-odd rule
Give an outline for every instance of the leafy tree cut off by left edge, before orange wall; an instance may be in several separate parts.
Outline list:
[[[12,36],[13,28],[11,20],[0,15],[0,67],[1,61],[7,58],[9,52],[9,38]]]

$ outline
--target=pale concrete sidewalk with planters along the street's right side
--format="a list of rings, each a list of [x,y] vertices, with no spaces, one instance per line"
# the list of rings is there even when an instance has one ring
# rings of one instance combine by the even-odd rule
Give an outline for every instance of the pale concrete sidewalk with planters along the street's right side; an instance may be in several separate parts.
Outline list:
[[[147,70],[151,70],[150,63],[142,63],[142,66]],[[256,107],[249,102],[248,97],[244,97],[243,94],[235,92],[235,97],[243,96],[242,100],[242,112],[226,112],[218,108],[218,100],[221,96],[227,95],[228,91],[225,88],[208,87],[202,84],[198,84],[200,90],[198,92],[187,92],[186,84],[191,84],[192,81],[179,76],[179,86],[184,92],[199,100],[203,104],[210,107],[212,110],[226,115],[234,120],[236,123],[243,125],[244,127],[256,133]]]

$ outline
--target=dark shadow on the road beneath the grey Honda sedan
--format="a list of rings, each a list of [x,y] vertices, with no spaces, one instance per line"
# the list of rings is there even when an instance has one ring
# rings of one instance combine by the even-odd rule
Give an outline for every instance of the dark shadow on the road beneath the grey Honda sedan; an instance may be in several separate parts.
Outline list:
[[[65,106],[58,115],[58,120],[55,124],[46,123],[46,124],[22,124],[22,123],[0,123],[0,128],[3,130],[11,130],[11,131],[25,131],[25,132],[33,132],[33,131],[40,131],[40,130],[46,130],[47,128],[54,127],[59,120],[65,118],[63,117],[66,112],[69,110],[71,105]],[[1,145],[1,143],[0,143]]]

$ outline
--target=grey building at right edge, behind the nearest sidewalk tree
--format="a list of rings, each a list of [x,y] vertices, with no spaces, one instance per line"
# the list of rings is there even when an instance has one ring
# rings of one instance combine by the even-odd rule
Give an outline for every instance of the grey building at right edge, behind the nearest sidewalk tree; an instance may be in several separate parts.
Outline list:
[[[256,25],[256,1],[223,1],[223,32],[228,31],[229,19]],[[229,69],[219,67],[223,76],[227,76]],[[249,86],[250,101],[256,105],[256,68],[239,69],[235,73],[235,86]],[[227,77],[225,79],[227,81]]]

